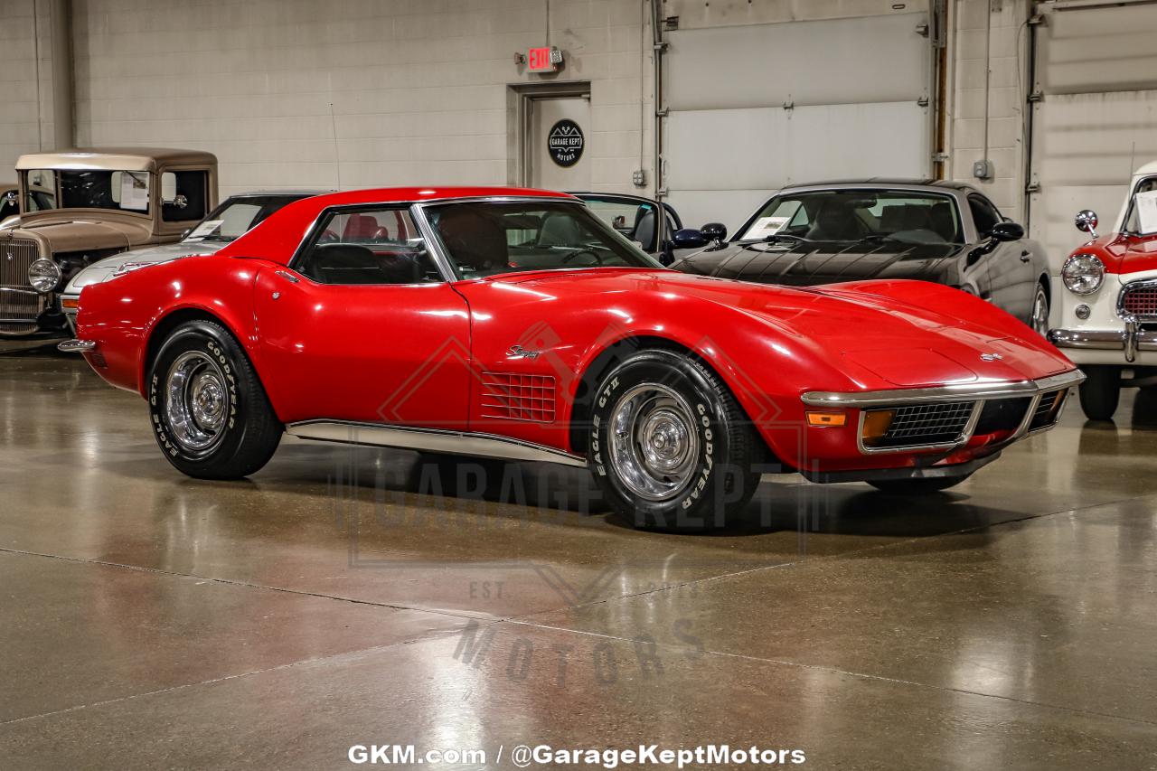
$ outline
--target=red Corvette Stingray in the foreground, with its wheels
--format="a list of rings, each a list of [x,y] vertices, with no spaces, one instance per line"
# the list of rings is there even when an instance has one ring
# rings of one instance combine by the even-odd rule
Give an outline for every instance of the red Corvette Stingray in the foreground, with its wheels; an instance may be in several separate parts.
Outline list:
[[[281,434],[589,468],[639,524],[724,521],[761,464],[942,490],[1056,421],[1081,373],[963,292],[663,269],[581,201],[388,189],[90,286],[78,339],[164,456],[237,478]]]

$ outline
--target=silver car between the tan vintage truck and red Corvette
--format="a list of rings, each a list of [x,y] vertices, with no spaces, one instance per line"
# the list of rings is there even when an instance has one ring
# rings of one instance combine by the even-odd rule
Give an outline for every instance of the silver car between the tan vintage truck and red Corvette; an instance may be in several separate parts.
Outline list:
[[[167,263],[170,259],[190,255],[212,255],[260,225],[265,218],[287,204],[310,196],[317,196],[323,190],[277,190],[256,191],[230,196],[204,220],[186,232],[177,243],[165,243],[145,249],[131,249],[116,257],[106,257],[73,276],[68,286],[60,294],[60,307],[68,318],[68,325],[75,326],[76,311],[80,308],[81,291],[86,286],[108,281],[110,278],[134,271],[146,265]]]

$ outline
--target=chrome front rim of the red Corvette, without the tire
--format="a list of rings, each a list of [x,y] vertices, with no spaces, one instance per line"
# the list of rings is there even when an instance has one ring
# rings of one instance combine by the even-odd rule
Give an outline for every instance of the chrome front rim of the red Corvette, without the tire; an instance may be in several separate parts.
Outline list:
[[[614,472],[634,494],[664,501],[690,484],[699,432],[691,405],[675,389],[635,386],[616,403],[609,431]]]

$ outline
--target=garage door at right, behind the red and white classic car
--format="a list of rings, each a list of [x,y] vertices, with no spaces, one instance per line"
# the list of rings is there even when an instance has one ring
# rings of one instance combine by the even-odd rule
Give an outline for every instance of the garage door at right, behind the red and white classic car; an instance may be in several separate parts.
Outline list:
[[[1157,5],[1039,10],[1029,229],[1059,273],[1084,241],[1073,215],[1092,208],[1112,227],[1133,170],[1157,160]]]

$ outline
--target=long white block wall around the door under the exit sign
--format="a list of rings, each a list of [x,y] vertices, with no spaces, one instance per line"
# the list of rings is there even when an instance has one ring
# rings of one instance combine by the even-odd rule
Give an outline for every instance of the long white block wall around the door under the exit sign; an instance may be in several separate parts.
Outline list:
[[[591,83],[592,186],[654,177],[640,0],[73,3],[78,142],[211,150],[222,197],[337,188],[339,159],[345,189],[514,182],[507,89],[547,80],[514,57],[547,25],[554,79]]]

